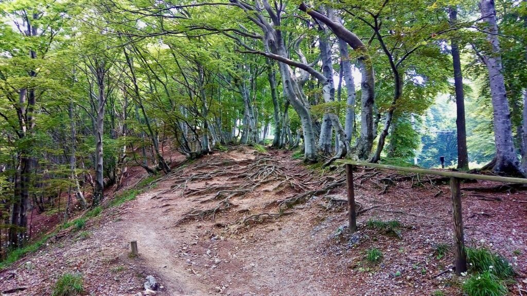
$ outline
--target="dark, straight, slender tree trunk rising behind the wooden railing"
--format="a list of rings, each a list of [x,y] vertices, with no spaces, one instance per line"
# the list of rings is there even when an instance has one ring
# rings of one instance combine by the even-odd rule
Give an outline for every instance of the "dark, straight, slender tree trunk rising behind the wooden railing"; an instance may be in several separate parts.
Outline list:
[[[457,23],[456,7],[451,7],[448,11],[450,25]],[[461,72],[461,57],[458,47],[458,38],[452,38],[452,61],[454,66],[454,86],[456,93],[456,128],[457,128],[457,169],[469,169],[469,153],[466,147],[466,126],[465,126],[465,96],[463,93],[463,74]]]

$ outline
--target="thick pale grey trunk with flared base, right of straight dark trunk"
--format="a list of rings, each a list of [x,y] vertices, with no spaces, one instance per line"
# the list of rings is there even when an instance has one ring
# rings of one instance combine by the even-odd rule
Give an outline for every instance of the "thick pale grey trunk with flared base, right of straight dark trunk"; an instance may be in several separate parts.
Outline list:
[[[489,70],[492,107],[494,115],[494,139],[496,144],[495,164],[493,170],[512,175],[524,175],[518,156],[514,151],[512,124],[507,101],[503,67],[498,39],[496,11],[493,0],[481,0],[481,15],[486,22],[487,40],[492,44],[492,52],[483,56]]]

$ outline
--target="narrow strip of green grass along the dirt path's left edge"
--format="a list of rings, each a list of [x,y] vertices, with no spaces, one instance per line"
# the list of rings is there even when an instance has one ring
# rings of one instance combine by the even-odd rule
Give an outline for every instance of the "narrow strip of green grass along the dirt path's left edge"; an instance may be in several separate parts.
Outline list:
[[[6,258],[0,261],[0,270],[18,261],[24,255],[35,252],[36,250],[40,249],[40,247],[44,245],[50,238],[55,236],[59,230],[68,229],[74,226],[73,230],[79,231],[84,228],[87,221],[89,221],[90,219],[96,216],[99,216],[102,213],[103,209],[110,209],[115,206],[119,206],[127,201],[131,201],[135,199],[135,197],[139,195],[140,193],[142,193],[144,190],[155,186],[155,180],[157,180],[159,177],[160,175],[158,174],[145,177],[143,180],[141,180],[138,184],[135,185],[134,189],[125,190],[122,193],[116,194],[114,198],[108,204],[104,206],[104,208],[103,206],[96,206],[95,208],[92,208],[86,213],[84,213],[82,216],[80,216],[80,218],[76,218],[71,221],[66,221],[62,223],[61,225],[57,225],[57,227],[51,233],[48,233],[42,236],[42,238],[38,239],[37,241],[33,243],[27,244],[23,246],[22,248],[8,250],[6,254]],[[83,239],[87,238],[87,236],[85,235],[81,235],[81,237]],[[57,295],[60,295],[60,294],[57,294]],[[69,294],[65,294],[65,295],[69,295]]]

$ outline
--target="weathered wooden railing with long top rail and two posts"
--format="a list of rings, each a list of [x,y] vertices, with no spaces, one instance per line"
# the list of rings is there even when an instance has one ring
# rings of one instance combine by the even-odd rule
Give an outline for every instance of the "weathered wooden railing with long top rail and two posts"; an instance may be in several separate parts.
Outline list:
[[[335,162],[339,164],[344,164],[346,167],[348,219],[350,233],[354,233],[357,230],[357,215],[355,211],[355,189],[353,184],[353,166],[367,166],[375,167],[376,169],[382,170],[450,177],[450,188],[452,195],[452,220],[454,226],[454,266],[456,273],[458,274],[466,271],[466,253],[464,242],[465,239],[463,234],[463,218],[461,214],[461,188],[459,180],[485,180],[495,182],[527,184],[527,179],[523,178],[477,175],[443,170],[427,170],[419,169],[417,167],[394,166],[345,159],[336,160]]]

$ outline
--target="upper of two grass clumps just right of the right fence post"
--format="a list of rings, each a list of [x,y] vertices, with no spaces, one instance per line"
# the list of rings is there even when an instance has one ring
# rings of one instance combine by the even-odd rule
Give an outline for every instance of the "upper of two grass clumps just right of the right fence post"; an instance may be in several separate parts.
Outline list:
[[[509,279],[514,275],[509,261],[484,248],[466,248],[469,270],[474,273],[490,272],[499,279]]]

